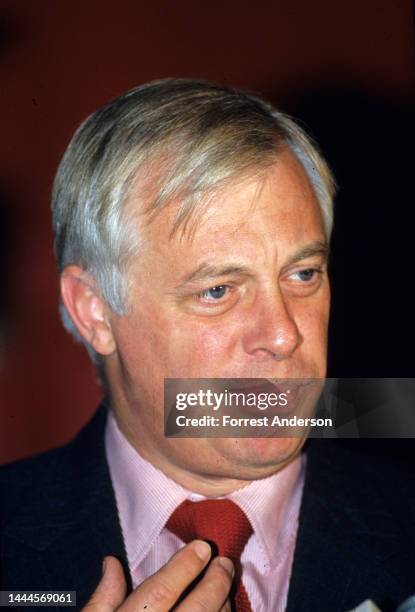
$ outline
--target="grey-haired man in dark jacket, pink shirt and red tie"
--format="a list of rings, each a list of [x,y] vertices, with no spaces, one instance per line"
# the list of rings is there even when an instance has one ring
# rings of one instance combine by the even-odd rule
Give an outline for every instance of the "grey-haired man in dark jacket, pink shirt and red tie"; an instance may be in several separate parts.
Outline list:
[[[70,445],[3,469],[3,589],[76,590],[86,610],[393,609],[411,594],[393,465],[328,441],[302,452],[304,436],[164,435],[165,379],[324,378],[333,193],[290,118],[209,82],[150,83],[79,128],[55,181],[56,254],[64,322],[105,399]],[[238,553],[221,529],[245,533]]]

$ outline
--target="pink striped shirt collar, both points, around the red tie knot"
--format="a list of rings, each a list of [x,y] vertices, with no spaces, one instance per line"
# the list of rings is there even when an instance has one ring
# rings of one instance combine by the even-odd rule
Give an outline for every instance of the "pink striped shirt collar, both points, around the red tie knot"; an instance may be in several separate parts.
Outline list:
[[[121,433],[109,412],[105,446],[130,567],[147,556],[172,512],[192,493],[146,461]],[[268,478],[254,480],[226,496],[246,514],[266,561],[275,567],[284,551],[287,526],[297,520],[304,484],[305,456]],[[272,537],[271,537],[272,536]]]

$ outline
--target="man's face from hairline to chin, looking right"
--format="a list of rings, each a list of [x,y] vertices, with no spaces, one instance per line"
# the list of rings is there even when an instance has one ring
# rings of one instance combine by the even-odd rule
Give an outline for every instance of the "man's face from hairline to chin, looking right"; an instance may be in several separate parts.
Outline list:
[[[112,317],[117,350],[106,365],[130,442],[203,492],[212,478],[274,473],[303,440],[166,438],[164,378],[324,377],[327,245],[310,182],[288,151],[216,193],[192,234],[170,235],[175,213],[173,204],[145,229],[130,270],[131,309]]]

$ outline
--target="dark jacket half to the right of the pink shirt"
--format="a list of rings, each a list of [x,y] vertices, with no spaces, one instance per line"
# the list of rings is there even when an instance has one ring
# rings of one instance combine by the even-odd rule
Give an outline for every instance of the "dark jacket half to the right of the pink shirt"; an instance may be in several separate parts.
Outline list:
[[[394,593],[396,609],[413,589],[410,566],[394,580],[389,563],[402,565],[403,542],[362,458],[338,442],[310,441],[287,612],[346,612],[365,599],[385,611],[384,594]]]

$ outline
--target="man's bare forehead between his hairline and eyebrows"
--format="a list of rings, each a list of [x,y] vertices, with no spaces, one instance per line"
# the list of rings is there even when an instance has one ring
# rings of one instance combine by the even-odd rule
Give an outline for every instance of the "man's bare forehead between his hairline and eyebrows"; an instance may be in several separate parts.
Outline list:
[[[166,206],[142,227],[144,250],[154,256],[193,259],[219,255],[242,244],[246,250],[249,242],[255,251],[275,240],[281,244],[324,240],[314,190],[288,150],[266,170],[247,173],[210,194],[199,208],[188,224],[172,232],[178,203]]]

